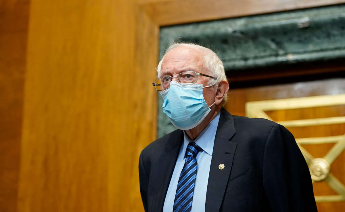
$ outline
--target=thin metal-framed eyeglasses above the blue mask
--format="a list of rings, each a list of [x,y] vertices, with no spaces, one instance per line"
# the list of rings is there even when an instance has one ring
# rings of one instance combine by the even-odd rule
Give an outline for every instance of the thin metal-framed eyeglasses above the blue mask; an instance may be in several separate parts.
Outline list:
[[[157,78],[154,83],[152,83],[153,86],[155,86],[156,90],[165,90],[168,89],[170,86],[170,82],[172,78],[177,78],[177,81],[182,85],[186,86],[184,84],[194,84],[198,81],[198,76],[205,76],[210,77],[212,79],[217,79],[216,77],[212,77],[206,74],[196,73],[195,71],[185,71],[177,75],[177,77],[171,77],[171,76],[162,76],[160,78]]]

